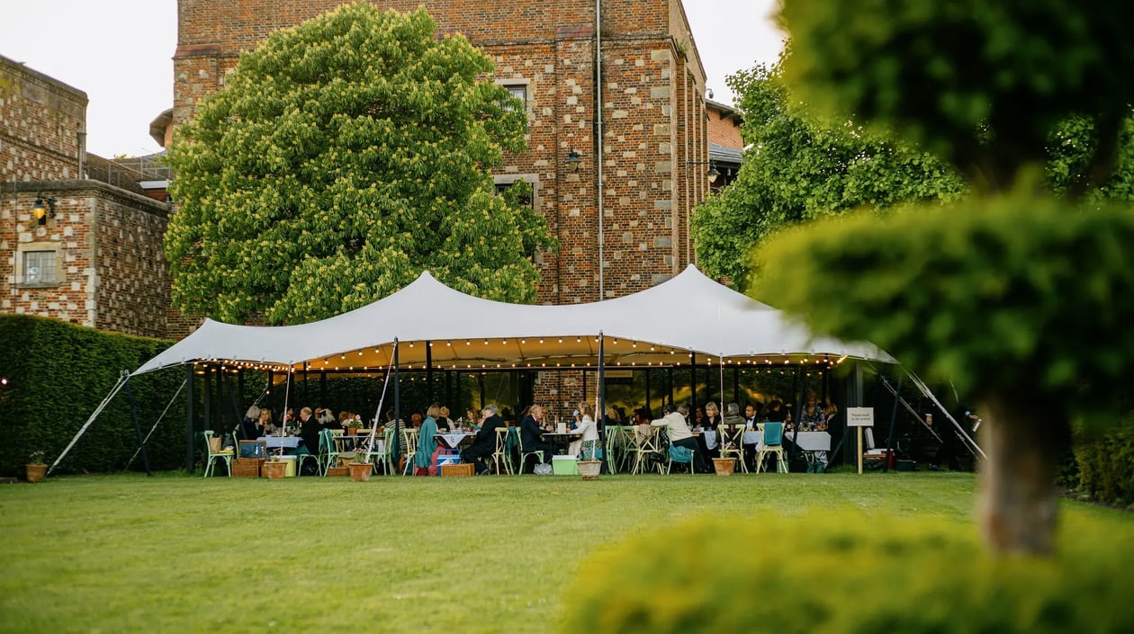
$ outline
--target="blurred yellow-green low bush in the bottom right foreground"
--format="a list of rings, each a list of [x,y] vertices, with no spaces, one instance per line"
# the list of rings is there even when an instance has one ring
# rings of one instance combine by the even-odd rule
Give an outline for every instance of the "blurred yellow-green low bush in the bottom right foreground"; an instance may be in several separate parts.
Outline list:
[[[1055,560],[992,562],[960,525],[940,520],[696,517],[585,562],[561,631],[1131,631],[1134,541],[1083,522],[1073,530]]]

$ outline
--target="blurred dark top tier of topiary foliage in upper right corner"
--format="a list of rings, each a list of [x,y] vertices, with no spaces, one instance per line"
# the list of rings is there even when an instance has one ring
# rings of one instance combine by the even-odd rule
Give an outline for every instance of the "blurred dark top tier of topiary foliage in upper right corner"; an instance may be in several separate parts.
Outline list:
[[[1107,165],[1134,102],[1131,2],[795,0],[780,20],[801,98],[898,128],[981,187],[1042,163],[1072,114],[1095,118]]]

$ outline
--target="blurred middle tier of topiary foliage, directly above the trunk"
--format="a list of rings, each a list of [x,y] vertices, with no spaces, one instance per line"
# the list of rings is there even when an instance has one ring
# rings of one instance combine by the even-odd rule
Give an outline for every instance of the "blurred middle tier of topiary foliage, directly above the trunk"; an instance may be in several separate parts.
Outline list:
[[[1013,194],[815,224],[761,254],[761,295],[976,400],[1117,419],[1134,358],[1134,213]],[[814,310],[815,306],[822,310]]]

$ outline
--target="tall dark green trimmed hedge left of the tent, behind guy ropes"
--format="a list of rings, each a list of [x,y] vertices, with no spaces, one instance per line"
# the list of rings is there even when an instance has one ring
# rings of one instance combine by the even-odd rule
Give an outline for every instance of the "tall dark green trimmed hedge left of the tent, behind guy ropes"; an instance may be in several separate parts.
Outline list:
[[[0,474],[22,476],[33,451],[51,464],[113,387],[171,342],[103,333],[24,315],[0,316]],[[149,432],[185,378],[184,369],[130,380],[142,434]],[[185,463],[185,409],[175,404],[146,448],[153,469]],[[171,417],[171,418],[170,418]],[[126,468],[137,436],[124,388],[110,402],[56,473],[108,472]],[[142,469],[141,456],[132,469]]]

